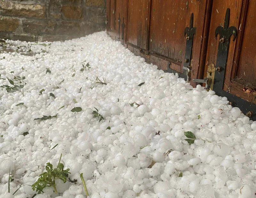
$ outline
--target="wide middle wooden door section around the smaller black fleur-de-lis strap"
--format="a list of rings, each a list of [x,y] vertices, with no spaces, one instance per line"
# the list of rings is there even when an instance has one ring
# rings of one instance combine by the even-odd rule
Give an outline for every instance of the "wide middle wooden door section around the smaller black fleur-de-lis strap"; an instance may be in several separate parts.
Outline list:
[[[191,13],[196,27],[192,48],[192,75],[197,75],[200,53],[204,48],[205,26],[210,1],[206,0],[152,0],[150,19],[150,50],[156,55],[170,59],[171,68],[183,72],[185,56],[185,27],[189,27]],[[203,54],[203,53],[202,53]],[[202,61],[202,60],[201,60]],[[166,70],[166,65],[164,65]]]

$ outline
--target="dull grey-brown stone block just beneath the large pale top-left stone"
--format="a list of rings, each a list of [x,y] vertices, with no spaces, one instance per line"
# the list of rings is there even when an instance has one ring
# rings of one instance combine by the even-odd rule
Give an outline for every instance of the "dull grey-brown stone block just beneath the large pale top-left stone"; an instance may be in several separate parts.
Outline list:
[[[54,34],[56,23],[52,21],[24,20],[22,25],[24,33],[42,35]]]

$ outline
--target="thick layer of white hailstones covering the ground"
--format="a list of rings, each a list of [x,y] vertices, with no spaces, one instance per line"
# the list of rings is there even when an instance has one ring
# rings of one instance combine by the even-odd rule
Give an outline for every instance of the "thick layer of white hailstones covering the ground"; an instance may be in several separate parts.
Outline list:
[[[0,198],[33,197],[30,186],[12,194],[33,184],[47,162],[55,167],[60,154],[77,184],[58,181],[58,194],[47,187],[35,198],[86,197],[80,173],[90,198],[255,197],[256,123],[227,98],[157,70],[105,32],[66,42],[7,41],[7,48],[13,52],[0,54],[0,86],[11,86],[6,77],[14,76],[27,84],[24,96],[0,88]],[[96,76],[107,85],[93,82]],[[93,118],[94,107],[105,120]],[[191,145],[186,131],[196,135]]]

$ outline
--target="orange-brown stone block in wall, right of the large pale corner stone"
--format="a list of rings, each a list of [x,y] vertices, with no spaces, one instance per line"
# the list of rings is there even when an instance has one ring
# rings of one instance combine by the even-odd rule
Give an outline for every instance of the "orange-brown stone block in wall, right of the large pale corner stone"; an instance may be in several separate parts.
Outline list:
[[[62,14],[66,19],[81,20],[83,19],[83,9],[80,6],[65,5],[61,8]]]

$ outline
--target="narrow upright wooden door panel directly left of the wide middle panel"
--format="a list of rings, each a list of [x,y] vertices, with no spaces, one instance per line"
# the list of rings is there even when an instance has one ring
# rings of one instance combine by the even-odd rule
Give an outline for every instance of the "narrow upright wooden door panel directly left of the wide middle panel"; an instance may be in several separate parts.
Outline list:
[[[149,0],[128,0],[126,43],[148,48]]]

